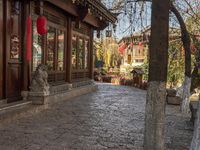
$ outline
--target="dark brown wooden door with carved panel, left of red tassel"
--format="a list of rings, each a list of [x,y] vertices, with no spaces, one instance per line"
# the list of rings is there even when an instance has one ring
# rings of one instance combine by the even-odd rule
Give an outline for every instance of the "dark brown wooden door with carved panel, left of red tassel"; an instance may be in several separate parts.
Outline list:
[[[21,2],[7,1],[6,20],[6,98],[13,102],[21,98],[22,87]]]

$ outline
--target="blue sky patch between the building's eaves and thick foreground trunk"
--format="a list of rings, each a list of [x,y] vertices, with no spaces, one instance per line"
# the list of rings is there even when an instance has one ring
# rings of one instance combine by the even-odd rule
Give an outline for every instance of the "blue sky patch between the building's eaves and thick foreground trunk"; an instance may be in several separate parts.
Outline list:
[[[107,6],[107,8],[112,7],[112,2],[114,0],[105,0],[104,4]],[[116,0],[115,0],[116,1]],[[113,32],[113,35],[115,38],[120,40],[122,37],[133,34],[134,32],[137,32],[146,26],[150,25],[150,17],[151,17],[151,4],[146,3],[143,7],[142,11],[142,21],[141,21],[141,15],[140,10],[142,6],[140,4],[130,3],[127,4],[126,9],[123,8],[120,10],[122,12],[118,16],[118,22],[117,22],[117,29],[116,33]],[[125,13],[126,11],[126,13]],[[108,29],[111,29],[112,25],[108,27]]]

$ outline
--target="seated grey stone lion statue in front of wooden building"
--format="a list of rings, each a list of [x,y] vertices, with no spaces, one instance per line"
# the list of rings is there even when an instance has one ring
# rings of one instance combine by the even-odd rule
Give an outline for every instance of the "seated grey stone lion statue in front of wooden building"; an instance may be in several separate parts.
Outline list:
[[[47,79],[47,67],[43,64],[40,64],[32,77],[30,91],[49,95],[49,84]]]

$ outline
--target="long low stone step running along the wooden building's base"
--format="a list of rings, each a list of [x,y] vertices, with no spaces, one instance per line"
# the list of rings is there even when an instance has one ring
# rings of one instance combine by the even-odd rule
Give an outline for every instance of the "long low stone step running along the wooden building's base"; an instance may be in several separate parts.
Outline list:
[[[47,98],[47,103],[45,103],[45,105],[33,105],[34,103],[37,103],[38,98],[36,99],[36,102],[21,100],[19,102],[1,105],[0,125],[12,122],[19,118],[35,115],[36,113],[50,108],[55,105],[55,103],[64,102],[72,99],[73,97],[81,96],[95,90],[97,90],[96,85],[88,85],[67,90],[62,93],[56,93]]]

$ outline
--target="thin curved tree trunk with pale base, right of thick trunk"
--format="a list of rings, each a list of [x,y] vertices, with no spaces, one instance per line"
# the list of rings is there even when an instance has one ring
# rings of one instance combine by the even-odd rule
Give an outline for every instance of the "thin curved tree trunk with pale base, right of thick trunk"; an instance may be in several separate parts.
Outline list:
[[[181,14],[172,3],[170,7],[171,7],[171,11],[174,13],[174,15],[179,21],[179,24],[181,27],[181,34],[182,34],[181,38],[182,38],[183,47],[185,50],[185,79],[182,85],[183,92],[181,93],[181,97],[183,98],[183,102],[181,105],[181,111],[188,113],[190,87],[191,87],[191,51],[190,51],[191,39],[190,39],[190,35],[187,31],[185,22]]]

